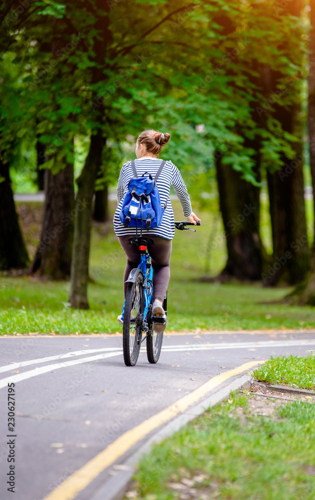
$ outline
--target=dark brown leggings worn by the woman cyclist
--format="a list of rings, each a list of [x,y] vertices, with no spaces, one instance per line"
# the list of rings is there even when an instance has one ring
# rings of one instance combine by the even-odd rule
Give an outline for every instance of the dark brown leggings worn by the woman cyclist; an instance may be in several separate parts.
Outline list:
[[[153,290],[154,299],[161,300],[163,302],[168,282],[170,280],[170,257],[172,251],[172,240],[162,238],[161,236],[149,236],[153,239],[153,245],[148,246],[148,251],[151,255],[152,267],[153,267]],[[124,273],[124,295],[126,296],[126,290],[128,283],[125,283],[128,279],[131,269],[138,267],[140,262],[140,250],[139,247],[133,243],[130,243],[129,239],[131,236],[119,237],[119,242],[127,255],[127,265]]]

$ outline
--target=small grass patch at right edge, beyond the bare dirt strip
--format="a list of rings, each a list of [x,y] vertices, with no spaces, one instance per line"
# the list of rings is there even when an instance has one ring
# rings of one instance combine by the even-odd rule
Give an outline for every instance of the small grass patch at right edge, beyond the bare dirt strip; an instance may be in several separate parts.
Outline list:
[[[315,356],[309,351],[306,357],[270,357],[253,372],[257,380],[269,383],[285,383],[291,387],[315,389]]]

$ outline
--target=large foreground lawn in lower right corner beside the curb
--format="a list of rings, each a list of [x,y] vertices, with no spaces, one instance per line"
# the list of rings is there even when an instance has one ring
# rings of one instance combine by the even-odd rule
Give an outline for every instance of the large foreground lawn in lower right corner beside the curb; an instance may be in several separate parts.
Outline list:
[[[184,493],[207,500],[311,500],[314,420],[313,404],[289,403],[270,418],[250,415],[246,396],[230,396],[141,460],[136,498],[172,500]],[[187,479],[191,494],[176,489]]]

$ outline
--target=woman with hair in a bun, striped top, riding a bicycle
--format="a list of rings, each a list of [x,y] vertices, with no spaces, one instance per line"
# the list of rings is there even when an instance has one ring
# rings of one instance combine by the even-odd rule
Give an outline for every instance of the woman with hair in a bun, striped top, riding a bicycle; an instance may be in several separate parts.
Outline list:
[[[158,158],[162,147],[170,140],[169,133],[161,133],[155,130],[144,130],[140,133],[136,143],[135,167],[140,177],[144,173],[149,173],[154,177],[161,165]],[[117,200],[118,206],[114,215],[114,230],[118,236],[119,242],[127,255],[127,265],[124,273],[124,295],[126,296],[127,284],[130,271],[138,267],[141,253],[137,245],[132,244],[129,239],[136,235],[135,227],[125,227],[120,221],[120,212],[125,194],[128,192],[128,183],[134,176],[131,161],[123,164],[120,171]],[[145,230],[145,235],[153,240],[148,251],[151,255],[153,267],[153,305],[152,312],[157,315],[164,315],[163,300],[166,295],[168,282],[170,279],[170,256],[172,251],[172,239],[174,237],[174,214],[170,201],[170,187],[173,186],[183,208],[183,214],[188,222],[196,224],[200,220],[192,211],[189,194],[184,184],[178,168],[167,160],[156,181],[159,190],[161,204],[166,204],[165,212],[161,224],[156,228]],[[154,330],[157,333],[164,331],[165,324],[153,323]]]

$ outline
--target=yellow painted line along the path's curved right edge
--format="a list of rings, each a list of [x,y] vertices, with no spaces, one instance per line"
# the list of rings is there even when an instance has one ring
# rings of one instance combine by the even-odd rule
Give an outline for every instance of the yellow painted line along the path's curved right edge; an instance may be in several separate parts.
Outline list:
[[[133,444],[140,441],[145,435],[151,432],[151,430],[154,430],[162,423],[170,420],[176,414],[183,412],[188,406],[198,401],[200,397],[204,396],[207,392],[214,389],[228,378],[249,370],[257,364],[263,364],[264,362],[265,361],[250,361],[248,363],[241,364],[237,368],[225,371],[220,375],[216,375],[197,389],[190,392],[190,394],[178,399],[178,401],[168,408],[163,409],[133,429],[128,430],[123,435],[118,437],[116,441],[109,444],[107,448],[92,458],[92,460],[83,465],[81,469],[77,470],[77,472],[68,477],[68,479],[52,491],[52,493],[45,496],[44,500],[72,500],[106,467],[122,456]]]

